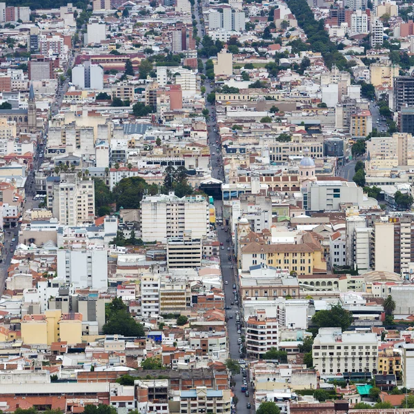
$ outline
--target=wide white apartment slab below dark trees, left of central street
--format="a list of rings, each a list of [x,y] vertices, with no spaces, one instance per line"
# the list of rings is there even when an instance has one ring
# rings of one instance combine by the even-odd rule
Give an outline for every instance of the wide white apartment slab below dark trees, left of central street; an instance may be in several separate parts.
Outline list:
[[[145,242],[166,243],[191,231],[204,239],[210,228],[210,211],[205,197],[179,198],[174,193],[145,197],[141,201],[141,231]]]

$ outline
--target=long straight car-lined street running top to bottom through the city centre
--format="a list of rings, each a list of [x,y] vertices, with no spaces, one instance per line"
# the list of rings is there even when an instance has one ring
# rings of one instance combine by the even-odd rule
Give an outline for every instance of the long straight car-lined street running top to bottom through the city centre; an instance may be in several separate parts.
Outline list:
[[[203,3],[200,3],[201,7]],[[194,8],[195,19],[197,20],[197,29],[199,31],[200,37],[203,37],[204,28],[201,27],[200,15],[198,6]],[[199,48],[201,47],[201,43]],[[206,63],[207,59],[203,59],[203,63]],[[213,87],[210,84],[210,81],[206,79],[204,81],[204,86],[206,87],[206,96],[213,91]],[[207,121],[207,132],[208,132],[208,145],[210,146],[210,159],[211,159],[211,170],[212,176],[215,179],[220,179],[224,181],[224,170],[223,170],[223,157],[222,157],[222,148],[217,133],[217,117],[215,112],[215,105],[208,103],[206,101],[206,108],[210,113],[210,119]],[[223,217],[222,212],[223,203],[221,201],[215,201],[216,216]],[[223,227],[223,228],[221,228]],[[240,305],[241,297],[239,295],[239,284],[237,281],[237,266],[234,259],[234,250],[233,242],[231,239],[231,233],[226,232],[226,225],[223,226],[217,225],[217,235],[219,238],[220,244],[220,264],[221,264],[221,275],[224,283],[224,295],[226,298],[226,319],[227,319],[227,335],[228,335],[228,348],[229,348],[229,357],[231,359],[240,360],[239,354],[239,344],[238,339],[244,335],[244,323],[242,317],[242,307]],[[233,286],[236,286],[233,289]],[[235,304],[235,293],[239,299],[239,305]],[[242,321],[241,333],[237,333],[237,322],[236,315],[239,313],[241,315],[240,319]],[[247,369],[247,367],[246,367]],[[233,376],[233,382],[235,382],[234,393],[238,399],[236,411],[237,414],[251,414],[254,413],[254,404],[253,404],[253,389],[248,384],[249,397],[246,397],[245,393],[242,393],[243,385],[243,376],[242,373]],[[251,402],[252,408],[247,408],[247,402]]]

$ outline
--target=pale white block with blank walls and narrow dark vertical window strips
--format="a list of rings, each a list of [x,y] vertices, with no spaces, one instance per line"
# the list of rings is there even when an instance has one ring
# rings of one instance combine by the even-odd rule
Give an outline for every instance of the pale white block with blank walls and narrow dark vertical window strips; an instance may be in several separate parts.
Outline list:
[[[75,288],[108,288],[106,250],[57,250],[57,280]]]

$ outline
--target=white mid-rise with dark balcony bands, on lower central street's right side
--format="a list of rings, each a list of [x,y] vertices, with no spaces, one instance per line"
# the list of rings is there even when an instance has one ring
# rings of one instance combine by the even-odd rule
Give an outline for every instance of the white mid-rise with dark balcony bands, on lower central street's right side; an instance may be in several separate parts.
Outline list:
[[[264,309],[257,309],[254,317],[246,322],[246,352],[250,357],[260,359],[270,351],[277,348],[279,337],[279,322],[277,317],[266,317]]]

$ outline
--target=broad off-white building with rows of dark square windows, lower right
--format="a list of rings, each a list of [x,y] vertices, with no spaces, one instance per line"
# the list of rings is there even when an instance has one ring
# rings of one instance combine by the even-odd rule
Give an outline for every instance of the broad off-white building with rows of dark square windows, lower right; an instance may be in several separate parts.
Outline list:
[[[342,332],[341,328],[319,328],[312,346],[313,365],[324,374],[372,373],[377,369],[376,333]]]

